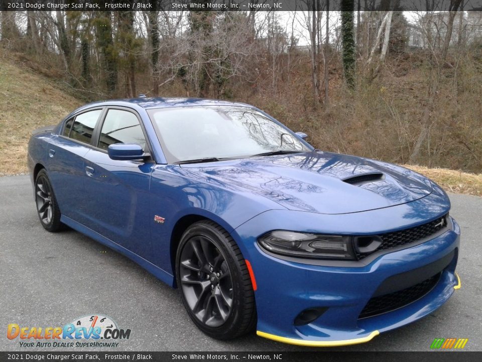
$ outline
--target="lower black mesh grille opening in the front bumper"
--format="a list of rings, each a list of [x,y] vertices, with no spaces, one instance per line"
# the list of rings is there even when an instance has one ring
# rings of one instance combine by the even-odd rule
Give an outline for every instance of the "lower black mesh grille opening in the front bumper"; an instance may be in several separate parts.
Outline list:
[[[391,312],[422,298],[437,284],[441,273],[407,289],[370,299],[358,319]]]

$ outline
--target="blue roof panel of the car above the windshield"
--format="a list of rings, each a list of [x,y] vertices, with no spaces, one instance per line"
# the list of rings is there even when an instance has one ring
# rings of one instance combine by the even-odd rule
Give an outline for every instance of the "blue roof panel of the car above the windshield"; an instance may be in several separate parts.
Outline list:
[[[80,109],[96,107],[96,106],[132,106],[150,108],[169,108],[169,107],[192,107],[192,106],[237,106],[237,107],[251,107],[251,105],[239,102],[227,102],[204,98],[175,98],[175,97],[139,97],[115,99],[108,101],[98,101],[89,103],[80,107]]]

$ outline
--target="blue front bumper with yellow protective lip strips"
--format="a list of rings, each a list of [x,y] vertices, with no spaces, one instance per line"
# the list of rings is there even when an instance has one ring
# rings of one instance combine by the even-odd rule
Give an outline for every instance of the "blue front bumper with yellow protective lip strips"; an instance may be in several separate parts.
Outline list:
[[[452,227],[443,234],[416,246],[381,255],[358,267],[321,266],[296,263],[268,255],[246,234],[242,250],[250,260],[257,282],[255,292],[258,311],[258,335],[280,342],[305,346],[339,346],[363,343],[379,333],[416,321],[444,304],[460,280],[455,274],[460,228]],[[250,224],[250,223],[248,223]],[[253,224],[238,228],[239,235]],[[393,311],[367,318],[360,312],[388,278],[423,269],[447,259],[439,270],[436,284],[421,298]],[[342,265],[342,263],[340,263]],[[412,273],[413,274],[413,273]],[[431,277],[430,275],[426,276]],[[309,308],[327,310],[309,324],[295,325],[300,312]]]

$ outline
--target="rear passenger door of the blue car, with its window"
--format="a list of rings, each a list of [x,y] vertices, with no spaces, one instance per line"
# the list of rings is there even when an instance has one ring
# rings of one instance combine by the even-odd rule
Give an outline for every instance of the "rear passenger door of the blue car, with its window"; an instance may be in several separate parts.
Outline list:
[[[86,221],[87,206],[83,157],[91,147],[93,131],[101,113],[102,108],[96,108],[69,118],[47,149],[47,170],[60,212],[81,224]]]

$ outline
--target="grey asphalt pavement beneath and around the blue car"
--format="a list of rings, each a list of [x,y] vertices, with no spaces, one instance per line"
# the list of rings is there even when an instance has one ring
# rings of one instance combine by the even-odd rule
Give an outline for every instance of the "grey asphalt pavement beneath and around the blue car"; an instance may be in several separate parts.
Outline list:
[[[457,266],[462,288],[416,323],[336,350],[426,351],[434,338],[448,337],[468,338],[465,350],[482,350],[482,198],[452,194],[450,199],[450,213],[462,229]],[[7,339],[9,323],[55,327],[93,313],[132,330],[131,338],[112,350],[315,350],[254,333],[229,342],[207,337],[189,320],[178,291],[130,259],[73,230],[45,231],[28,175],[0,177],[0,245],[0,351],[27,351],[18,338]]]

